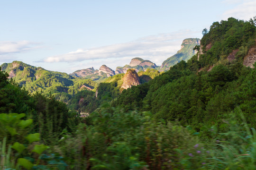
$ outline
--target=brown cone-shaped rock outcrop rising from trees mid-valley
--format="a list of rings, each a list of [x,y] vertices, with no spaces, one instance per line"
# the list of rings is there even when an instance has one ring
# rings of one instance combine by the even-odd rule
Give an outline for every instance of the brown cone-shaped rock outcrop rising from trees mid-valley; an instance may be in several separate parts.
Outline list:
[[[128,69],[123,77],[121,88],[128,89],[133,85],[140,85],[139,76],[135,69]]]

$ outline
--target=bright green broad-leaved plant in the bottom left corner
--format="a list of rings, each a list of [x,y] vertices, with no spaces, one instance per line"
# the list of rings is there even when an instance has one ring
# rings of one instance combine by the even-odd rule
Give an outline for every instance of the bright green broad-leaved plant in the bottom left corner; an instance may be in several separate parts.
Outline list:
[[[33,142],[40,141],[40,134],[28,134],[29,125],[32,124],[31,119],[22,120],[26,114],[21,113],[1,113],[0,114],[0,129],[4,136],[0,139],[3,139],[3,144],[0,143],[0,151],[1,151],[1,161],[0,168],[1,170],[8,170],[11,168],[15,168],[19,170],[20,166],[24,167],[27,170],[31,170],[32,168],[37,169],[38,167],[42,167],[39,163],[42,163],[42,155],[41,153],[45,152],[49,147],[45,144],[32,144]],[[13,131],[9,131],[9,128],[15,129],[16,133]],[[11,140],[6,140],[10,138]],[[26,136],[26,137],[25,137]],[[27,144],[26,139],[29,144]],[[16,141],[16,142],[14,142]],[[8,147],[8,153],[6,153],[6,147]],[[33,148],[31,150],[30,148]],[[13,149],[13,150],[11,150]],[[38,156],[32,155],[31,152],[35,152]],[[40,162],[41,161],[41,162]],[[48,162],[49,163],[49,162]],[[15,165],[16,164],[16,165]],[[64,170],[64,168],[59,168],[58,166],[52,165],[53,163],[49,163],[42,170],[50,170],[50,169],[59,169]],[[14,169],[12,169],[14,170]]]

